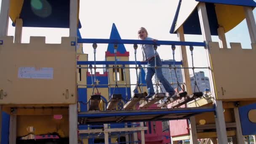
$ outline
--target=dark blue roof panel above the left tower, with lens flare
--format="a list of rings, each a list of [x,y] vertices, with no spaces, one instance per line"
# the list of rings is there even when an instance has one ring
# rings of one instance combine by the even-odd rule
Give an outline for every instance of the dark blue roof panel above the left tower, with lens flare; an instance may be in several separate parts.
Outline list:
[[[69,28],[69,0],[24,0],[20,18],[23,27]],[[78,28],[81,28],[80,21]]]

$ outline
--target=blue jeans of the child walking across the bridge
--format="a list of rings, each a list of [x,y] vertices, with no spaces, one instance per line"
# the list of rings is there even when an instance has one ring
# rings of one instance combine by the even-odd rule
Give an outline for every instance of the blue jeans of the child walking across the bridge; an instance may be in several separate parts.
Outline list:
[[[155,69],[155,59],[157,64],[157,69]],[[165,91],[168,92],[171,96],[175,93],[174,89],[171,87],[171,84],[165,79],[162,72],[162,61],[159,56],[156,56],[148,61],[146,69],[146,76],[145,80],[147,83],[147,91],[148,93],[155,93],[152,83],[152,77],[153,75],[157,74],[157,79],[160,81],[160,83],[163,84],[163,87],[165,88]]]

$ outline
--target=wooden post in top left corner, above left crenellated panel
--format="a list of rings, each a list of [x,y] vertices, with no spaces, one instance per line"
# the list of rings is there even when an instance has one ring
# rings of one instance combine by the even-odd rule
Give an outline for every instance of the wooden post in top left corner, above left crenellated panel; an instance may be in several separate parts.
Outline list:
[[[8,33],[8,22],[9,22],[9,7],[10,0],[2,0],[1,11],[0,11],[0,37],[7,36]]]

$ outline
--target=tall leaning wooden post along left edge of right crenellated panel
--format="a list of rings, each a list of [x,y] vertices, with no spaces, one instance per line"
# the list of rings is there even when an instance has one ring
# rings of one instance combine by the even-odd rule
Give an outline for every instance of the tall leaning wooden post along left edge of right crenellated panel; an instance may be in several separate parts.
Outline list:
[[[211,32],[210,32],[210,26],[207,16],[207,11],[205,7],[205,3],[199,3],[197,5],[197,11],[199,15],[199,21],[201,26],[201,31],[204,37],[204,40],[208,43],[211,42]],[[211,58],[208,47],[206,47],[206,53],[207,53],[207,60],[208,60],[208,66],[210,69],[212,69],[211,66]],[[214,81],[213,81],[213,72],[210,71],[210,84],[211,84],[211,93],[216,99],[216,91],[214,87]],[[218,143],[219,144],[227,144],[227,130],[226,130],[226,124],[224,119],[224,113],[223,113],[223,105],[221,100],[216,100],[216,116],[215,116],[215,122],[216,122],[216,131],[218,136]]]

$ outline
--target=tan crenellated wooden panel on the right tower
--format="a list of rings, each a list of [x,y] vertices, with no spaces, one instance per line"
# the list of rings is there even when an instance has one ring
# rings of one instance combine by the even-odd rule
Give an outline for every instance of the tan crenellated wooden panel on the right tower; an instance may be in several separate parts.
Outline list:
[[[217,99],[256,99],[256,47],[242,49],[240,43],[230,45],[231,48],[223,49],[219,43],[209,43]]]

